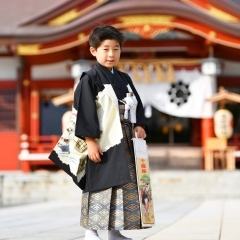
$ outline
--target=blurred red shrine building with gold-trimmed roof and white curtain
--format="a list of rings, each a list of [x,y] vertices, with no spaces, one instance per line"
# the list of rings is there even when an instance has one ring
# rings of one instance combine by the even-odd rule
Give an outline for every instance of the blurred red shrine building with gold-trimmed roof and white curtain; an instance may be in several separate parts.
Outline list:
[[[0,0],[0,170],[53,167],[47,157],[74,84],[94,64],[88,36],[99,24],[125,34],[118,68],[143,100],[148,143],[203,148],[215,137],[220,105],[207,100],[221,86],[240,94],[240,1]],[[240,147],[240,105],[224,108],[227,145]]]

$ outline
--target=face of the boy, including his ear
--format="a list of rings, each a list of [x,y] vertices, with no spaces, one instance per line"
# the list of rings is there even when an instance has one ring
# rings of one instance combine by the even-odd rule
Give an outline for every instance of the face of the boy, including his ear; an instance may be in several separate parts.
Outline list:
[[[121,48],[118,41],[106,39],[97,49],[90,47],[90,52],[101,65],[111,70],[119,62]]]

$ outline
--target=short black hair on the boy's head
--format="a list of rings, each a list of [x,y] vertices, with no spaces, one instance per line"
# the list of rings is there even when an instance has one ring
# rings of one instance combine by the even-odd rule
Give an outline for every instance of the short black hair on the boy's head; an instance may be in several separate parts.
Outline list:
[[[120,47],[122,47],[125,40],[123,33],[118,29],[110,25],[100,25],[95,27],[89,36],[89,45],[97,49],[104,40],[111,39],[118,41]]]

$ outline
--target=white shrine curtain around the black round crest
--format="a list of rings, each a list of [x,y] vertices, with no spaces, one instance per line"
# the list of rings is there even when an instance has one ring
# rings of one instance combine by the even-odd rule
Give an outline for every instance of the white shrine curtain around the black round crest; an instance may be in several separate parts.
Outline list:
[[[131,70],[127,71],[133,79]],[[140,78],[144,77],[141,70],[138,72]],[[175,71],[175,82],[180,81],[183,85],[188,85],[190,95],[187,102],[178,106],[175,102],[170,101],[168,92],[171,90],[171,83],[168,81],[157,81],[156,74],[150,69],[151,82],[144,83],[134,82],[134,85],[142,99],[143,105],[151,105],[157,110],[177,117],[189,118],[212,118],[216,111],[215,104],[206,101],[216,93],[216,79],[211,76],[202,75],[197,69],[187,71]]]

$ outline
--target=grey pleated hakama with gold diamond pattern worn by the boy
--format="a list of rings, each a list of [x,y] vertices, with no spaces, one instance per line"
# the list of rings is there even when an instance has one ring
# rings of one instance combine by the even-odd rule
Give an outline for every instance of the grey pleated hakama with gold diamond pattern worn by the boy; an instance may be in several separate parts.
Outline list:
[[[122,123],[126,161],[132,182],[82,195],[80,225],[91,230],[141,229],[132,126]]]

